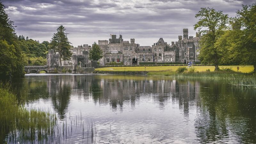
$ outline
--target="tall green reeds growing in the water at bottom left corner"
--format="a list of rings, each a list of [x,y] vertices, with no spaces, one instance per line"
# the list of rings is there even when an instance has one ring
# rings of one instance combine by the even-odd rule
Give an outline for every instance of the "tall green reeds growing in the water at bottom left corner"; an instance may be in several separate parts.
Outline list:
[[[10,86],[0,83],[0,142],[26,143],[50,139],[57,117],[49,110],[27,109],[18,104]]]

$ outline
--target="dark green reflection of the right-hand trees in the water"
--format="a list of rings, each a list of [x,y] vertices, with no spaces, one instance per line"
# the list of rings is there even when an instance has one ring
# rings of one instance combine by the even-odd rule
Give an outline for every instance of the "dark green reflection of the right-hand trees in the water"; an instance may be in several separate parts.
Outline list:
[[[239,142],[255,143],[256,118],[253,114],[256,112],[256,98],[248,99],[248,95],[234,93],[234,90],[222,83],[205,83],[204,86],[209,89],[201,88],[200,112],[195,122],[199,141],[220,142],[230,135],[237,135],[241,137]],[[252,96],[253,91],[249,95]]]

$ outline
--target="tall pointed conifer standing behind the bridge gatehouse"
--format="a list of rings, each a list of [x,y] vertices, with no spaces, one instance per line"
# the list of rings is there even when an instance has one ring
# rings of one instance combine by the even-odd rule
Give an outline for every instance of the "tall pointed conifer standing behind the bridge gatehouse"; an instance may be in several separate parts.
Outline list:
[[[71,43],[68,41],[68,33],[65,33],[66,28],[64,26],[60,26],[57,28],[57,33],[54,33],[51,39],[51,43],[49,44],[49,48],[54,49],[56,52],[59,52],[59,64],[61,64],[61,60],[70,60],[72,56],[72,52],[70,52]]]

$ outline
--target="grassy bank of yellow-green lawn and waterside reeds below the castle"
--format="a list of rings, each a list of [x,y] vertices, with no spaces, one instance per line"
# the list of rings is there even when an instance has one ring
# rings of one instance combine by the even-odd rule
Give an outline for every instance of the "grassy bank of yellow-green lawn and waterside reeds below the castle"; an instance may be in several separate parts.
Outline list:
[[[125,68],[125,69],[124,69]],[[172,76],[176,78],[189,79],[212,79],[225,80],[229,84],[243,87],[256,88],[256,75],[251,74],[253,66],[220,66],[220,71],[213,71],[214,66],[195,66],[193,68],[184,69],[180,71],[180,66],[160,66],[160,67],[146,67],[148,75],[157,76]],[[96,68],[97,71],[145,71],[145,67],[110,67],[110,68]],[[208,71],[206,71],[208,70]],[[209,71],[210,70],[210,71]]]

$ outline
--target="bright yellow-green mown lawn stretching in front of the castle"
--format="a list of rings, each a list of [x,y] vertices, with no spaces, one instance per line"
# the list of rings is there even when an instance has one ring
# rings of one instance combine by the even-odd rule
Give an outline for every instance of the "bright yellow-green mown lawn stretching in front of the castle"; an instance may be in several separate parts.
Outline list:
[[[176,69],[180,66],[155,66],[155,67],[147,67],[146,71],[176,71]],[[185,66],[184,66],[185,67]],[[214,66],[195,66],[196,71],[206,71],[210,69],[214,71]],[[220,66],[222,68],[232,68],[234,71],[237,71],[237,66]],[[96,68],[98,71],[145,71],[145,67],[108,67],[108,68]],[[239,66],[239,72],[249,73],[252,72],[253,66]]]

